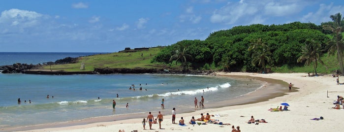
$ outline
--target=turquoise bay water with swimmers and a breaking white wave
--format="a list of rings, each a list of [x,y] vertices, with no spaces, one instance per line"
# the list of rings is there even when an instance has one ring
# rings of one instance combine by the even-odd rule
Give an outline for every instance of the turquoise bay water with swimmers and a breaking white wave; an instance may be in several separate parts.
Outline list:
[[[39,61],[34,59],[45,54],[50,53],[36,54],[37,57],[32,57],[31,61],[37,63]],[[18,60],[23,59],[19,57]],[[178,112],[194,111],[197,110],[193,104],[195,97],[200,100],[203,96],[206,108],[216,107],[216,102],[246,95],[262,88],[264,83],[201,75],[0,73],[0,128],[145,114],[148,111],[170,113],[173,107]],[[135,91],[129,90],[132,85]],[[143,90],[139,90],[140,87]],[[17,102],[19,98],[21,103]],[[112,108],[113,99],[117,103],[115,109]],[[165,100],[165,109],[161,109],[161,99]],[[127,108],[126,103],[129,105]]]

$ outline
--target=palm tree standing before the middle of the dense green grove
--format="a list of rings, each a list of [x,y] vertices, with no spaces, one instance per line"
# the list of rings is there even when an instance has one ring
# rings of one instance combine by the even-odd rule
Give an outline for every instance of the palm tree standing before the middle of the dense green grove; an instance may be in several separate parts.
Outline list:
[[[266,62],[269,63],[272,61],[272,53],[270,52],[269,47],[263,43],[260,38],[258,38],[255,42],[250,44],[248,51],[253,51],[252,65],[258,64],[258,66],[262,66],[263,71],[266,72]]]

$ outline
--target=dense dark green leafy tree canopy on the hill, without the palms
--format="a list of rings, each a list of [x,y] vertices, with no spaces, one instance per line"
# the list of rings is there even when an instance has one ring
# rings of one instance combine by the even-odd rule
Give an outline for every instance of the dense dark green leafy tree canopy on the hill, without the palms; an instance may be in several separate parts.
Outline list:
[[[237,26],[210,33],[205,40],[182,40],[167,46],[153,58],[153,62],[170,63],[169,60],[174,55],[172,47],[182,44],[186,45],[185,54],[193,58],[188,60],[193,69],[213,66],[228,71],[255,72],[261,70],[262,66],[252,64],[259,60],[254,60],[257,58],[253,56],[258,57],[260,53],[268,57],[268,60],[262,62],[264,70],[265,67],[271,66],[303,66],[297,63],[297,59],[303,55],[302,47],[305,46],[306,40],[314,40],[319,43],[320,49],[325,49],[326,42],[330,39],[325,33],[328,31],[313,23]],[[251,43],[257,43],[257,40],[264,42],[262,44],[269,49],[269,52],[257,52],[256,50],[259,49],[252,47],[252,50],[248,50]]]

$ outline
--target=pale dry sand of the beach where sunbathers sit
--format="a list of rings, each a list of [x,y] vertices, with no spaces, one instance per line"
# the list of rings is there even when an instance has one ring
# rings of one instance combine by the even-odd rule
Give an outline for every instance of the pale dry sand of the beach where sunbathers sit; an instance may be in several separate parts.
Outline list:
[[[282,80],[285,83],[292,83],[297,87],[297,92],[287,93],[280,97],[273,99],[257,101],[254,103],[226,106],[220,108],[205,108],[190,113],[178,113],[176,115],[176,122],[184,117],[185,122],[194,116],[196,119],[200,118],[200,113],[209,113],[212,115],[219,115],[219,117],[212,117],[211,119],[218,119],[220,122],[229,123],[231,125],[191,125],[180,126],[172,124],[171,115],[164,115],[161,128],[158,124],[153,124],[153,130],[149,130],[149,124],[146,123],[146,130],[143,130],[141,124],[142,118],[128,119],[113,122],[97,122],[86,125],[73,125],[67,127],[36,129],[23,132],[118,132],[125,130],[131,132],[137,130],[138,132],[229,132],[232,125],[240,126],[242,132],[321,132],[321,131],[340,131],[342,130],[338,125],[341,125],[343,109],[337,110],[334,107],[333,100],[337,96],[344,96],[344,85],[336,85],[336,78],[328,74],[317,77],[308,77],[306,73],[271,73],[271,74],[257,74],[257,73],[242,73],[219,72],[218,75],[223,76],[252,76]],[[339,77],[340,82],[344,78]],[[270,87],[270,85],[266,85]],[[288,87],[285,86],[285,91]],[[328,96],[327,96],[328,91]],[[262,96],[264,93],[260,93]],[[264,95],[265,96],[265,95]],[[289,111],[271,112],[270,108],[281,106],[282,102],[287,102],[290,107]],[[343,106],[341,105],[343,108]],[[152,113],[155,118],[157,113]],[[257,119],[265,119],[268,123],[248,124],[250,116]],[[320,118],[323,120],[311,120],[313,118]],[[147,115],[146,115],[147,117]],[[197,121],[198,122],[198,121]],[[8,131],[8,130],[1,130]]]

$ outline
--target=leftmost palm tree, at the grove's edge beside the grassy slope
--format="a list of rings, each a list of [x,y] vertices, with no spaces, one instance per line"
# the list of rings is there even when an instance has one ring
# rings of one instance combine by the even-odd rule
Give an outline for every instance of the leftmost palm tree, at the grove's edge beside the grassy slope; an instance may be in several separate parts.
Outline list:
[[[175,51],[174,51],[174,55],[171,56],[170,61],[176,60],[176,65],[177,62],[181,62],[182,66],[183,66],[183,71],[186,71],[187,69],[187,59],[191,58],[191,55],[187,54],[187,46],[185,44],[182,43],[177,43],[177,45],[175,45]]]

